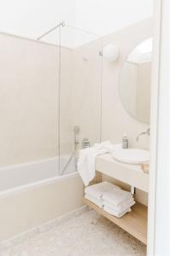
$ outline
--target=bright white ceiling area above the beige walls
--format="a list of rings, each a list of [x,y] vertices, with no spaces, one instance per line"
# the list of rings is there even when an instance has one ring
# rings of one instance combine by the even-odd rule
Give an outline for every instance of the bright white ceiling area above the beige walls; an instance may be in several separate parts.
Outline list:
[[[0,0],[0,31],[37,39],[61,20],[69,26],[105,36],[152,15],[154,0]],[[57,37],[56,37],[57,35]],[[68,28],[61,30],[62,45],[75,48],[98,38]],[[51,44],[59,29],[43,38]]]

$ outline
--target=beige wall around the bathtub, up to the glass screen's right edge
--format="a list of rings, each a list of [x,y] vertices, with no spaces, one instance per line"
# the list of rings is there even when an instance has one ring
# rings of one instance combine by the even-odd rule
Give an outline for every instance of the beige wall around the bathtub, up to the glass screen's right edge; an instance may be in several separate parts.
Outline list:
[[[71,155],[74,125],[80,146],[83,137],[99,143],[101,40],[61,48],[60,69],[53,45],[5,34],[0,42],[0,166]]]

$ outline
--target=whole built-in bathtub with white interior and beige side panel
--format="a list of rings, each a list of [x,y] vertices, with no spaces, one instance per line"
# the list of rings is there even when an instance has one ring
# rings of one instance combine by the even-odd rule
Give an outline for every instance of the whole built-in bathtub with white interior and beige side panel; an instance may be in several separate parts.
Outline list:
[[[68,156],[0,168],[0,241],[82,206],[82,181]],[[77,193],[79,191],[79,193]]]

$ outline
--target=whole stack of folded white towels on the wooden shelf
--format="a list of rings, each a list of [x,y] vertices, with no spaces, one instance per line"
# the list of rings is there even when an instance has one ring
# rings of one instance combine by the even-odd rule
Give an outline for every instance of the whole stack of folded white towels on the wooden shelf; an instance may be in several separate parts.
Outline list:
[[[86,187],[85,198],[117,218],[131,212],[131,207],[135,204],[130,192],[108,182]]]

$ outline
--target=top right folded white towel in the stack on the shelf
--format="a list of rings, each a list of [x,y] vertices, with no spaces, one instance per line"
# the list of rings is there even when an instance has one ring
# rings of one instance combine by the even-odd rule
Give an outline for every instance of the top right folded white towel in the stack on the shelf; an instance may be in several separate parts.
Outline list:
[[[106,191],[102,199],[115,207],[121,207],[127,200],[133,200],[133,195],[122,189],[112,189],[112,191]]]

